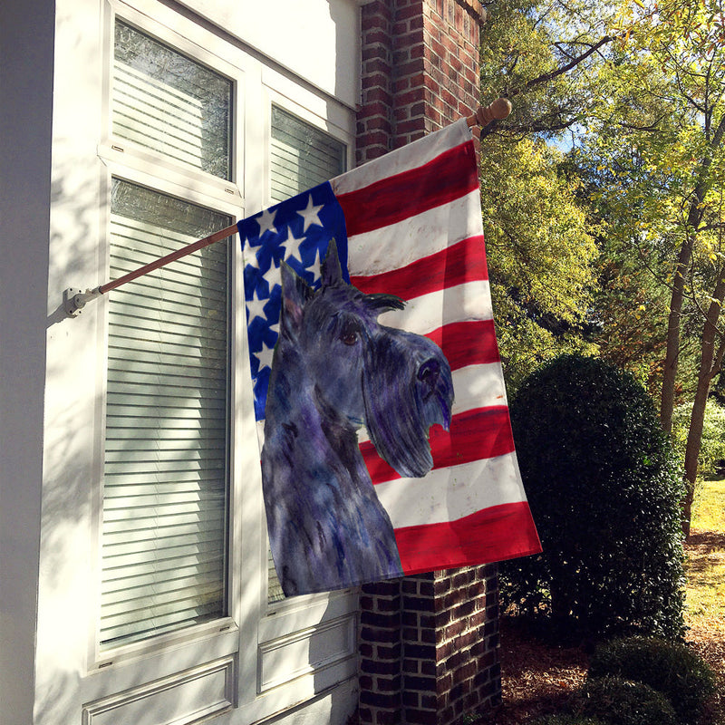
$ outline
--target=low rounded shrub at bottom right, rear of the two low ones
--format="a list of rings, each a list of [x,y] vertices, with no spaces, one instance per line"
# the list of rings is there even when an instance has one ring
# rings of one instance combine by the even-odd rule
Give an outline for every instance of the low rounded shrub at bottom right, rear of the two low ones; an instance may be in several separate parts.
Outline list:
[[[589,677],[618,675],[662,692],[683,722],[696,722],[715,691],[708,665],[684,644],[654,637],[630,637],[597,647]]]

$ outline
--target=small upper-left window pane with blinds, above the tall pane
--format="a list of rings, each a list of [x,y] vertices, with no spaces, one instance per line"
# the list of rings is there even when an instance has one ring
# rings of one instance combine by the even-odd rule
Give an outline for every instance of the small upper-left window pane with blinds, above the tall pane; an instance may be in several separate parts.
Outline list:
[[[116,21],[116,138],[230,179],[231,99],[226,78]]]

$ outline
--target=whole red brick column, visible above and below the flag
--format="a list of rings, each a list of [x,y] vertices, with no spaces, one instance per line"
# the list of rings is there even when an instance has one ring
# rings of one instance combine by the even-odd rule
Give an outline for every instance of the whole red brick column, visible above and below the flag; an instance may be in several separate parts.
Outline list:
[[[372,0],[362,13],[357,162],[476,109],[479,0]],[[361,723],[449,725],[500,701],[498,567],[362,587]]]

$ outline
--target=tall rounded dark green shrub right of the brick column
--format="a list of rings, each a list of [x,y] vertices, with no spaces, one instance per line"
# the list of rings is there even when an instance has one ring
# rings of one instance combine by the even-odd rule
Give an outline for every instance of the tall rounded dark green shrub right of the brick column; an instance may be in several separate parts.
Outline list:
[[[501,565],[505,605],[577,636],[684,631],[680,471],[643,387],[565,355],[511,401],[544,553]]]

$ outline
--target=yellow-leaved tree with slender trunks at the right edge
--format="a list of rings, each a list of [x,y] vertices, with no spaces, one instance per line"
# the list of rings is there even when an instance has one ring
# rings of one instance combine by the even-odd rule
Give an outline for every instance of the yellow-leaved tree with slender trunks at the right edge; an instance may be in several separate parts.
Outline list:
[[[697,340],[685,452],[689,530],[702,421],[725,342],[725,15],[720,0],[624,5],[620,40],[598,68],[598,102],[578,157],[597,181],[607,233],[669,296],[661,420],[672,428],[680,362]],[[587,168],[588,167],[588,168]],[[593,168],[594,167],[594,168]],[[690,329],[699,328],[690,334]],[[685,344],[683,344],[683,337]],[[690,370],[685,370],[685,373]]]

